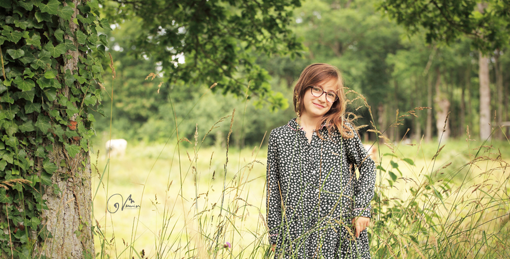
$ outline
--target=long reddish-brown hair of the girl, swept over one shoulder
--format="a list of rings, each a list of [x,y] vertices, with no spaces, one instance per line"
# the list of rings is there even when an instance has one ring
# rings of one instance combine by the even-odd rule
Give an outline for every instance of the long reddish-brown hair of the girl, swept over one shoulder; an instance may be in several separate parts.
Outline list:
[[[324,114],[317,127],[325,122],[329,134],[336,128],[338,132],[342,134],[342,137],[352,138],[354,137],[353,128],[346,125],[346,123],[350,121],[345,117],[344,82],[340,70],[335,66],[317,63],[304,68],[294,87],[294,111],[299,117],[304,109],[302,99],[309,86],[317,85],[332,79],[337,82],[337,90],[335,92],[338,98],[333,102],[333,105],[331,105],[331,109]]]

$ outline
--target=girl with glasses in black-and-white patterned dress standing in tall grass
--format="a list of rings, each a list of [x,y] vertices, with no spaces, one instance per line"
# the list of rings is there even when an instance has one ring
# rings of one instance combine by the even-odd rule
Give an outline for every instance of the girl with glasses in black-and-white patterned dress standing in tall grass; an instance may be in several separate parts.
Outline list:
[[[305,68],[294,110],[297,118],[269,136],[267,224],[275,258],[370,258],[365,228],[375,165],[345,116],[340,71]]]

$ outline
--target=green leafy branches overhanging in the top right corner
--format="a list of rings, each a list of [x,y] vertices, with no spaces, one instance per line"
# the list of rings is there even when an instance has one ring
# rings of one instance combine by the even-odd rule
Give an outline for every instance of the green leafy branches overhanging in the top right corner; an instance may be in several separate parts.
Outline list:
[[[510,2],[505,0],[389,0],[380,2],[380,8],[411,33],[424,28],[427,43],[468,36],[474,48],[488,53],[510,39]]]

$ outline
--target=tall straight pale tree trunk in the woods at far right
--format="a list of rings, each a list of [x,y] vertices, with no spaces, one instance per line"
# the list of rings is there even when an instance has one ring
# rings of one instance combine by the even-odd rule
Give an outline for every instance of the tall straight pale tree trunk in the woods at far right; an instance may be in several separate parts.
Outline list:
[[[491,88],[489,85],[489,58],[482,53],[478,59],[480,81],[480,141],[491,137]]]

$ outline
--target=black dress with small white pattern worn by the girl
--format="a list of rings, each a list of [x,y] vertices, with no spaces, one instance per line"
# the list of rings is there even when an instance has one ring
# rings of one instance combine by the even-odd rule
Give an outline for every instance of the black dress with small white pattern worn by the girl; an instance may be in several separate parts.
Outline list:
[[[318,131],[323,139],[314,132],[309,143],[294,118],[269,136],[267,224],[275,258],[370,258],[367,230],[355,238],[352,218],[371,216],[374,162],[357,134]]]

